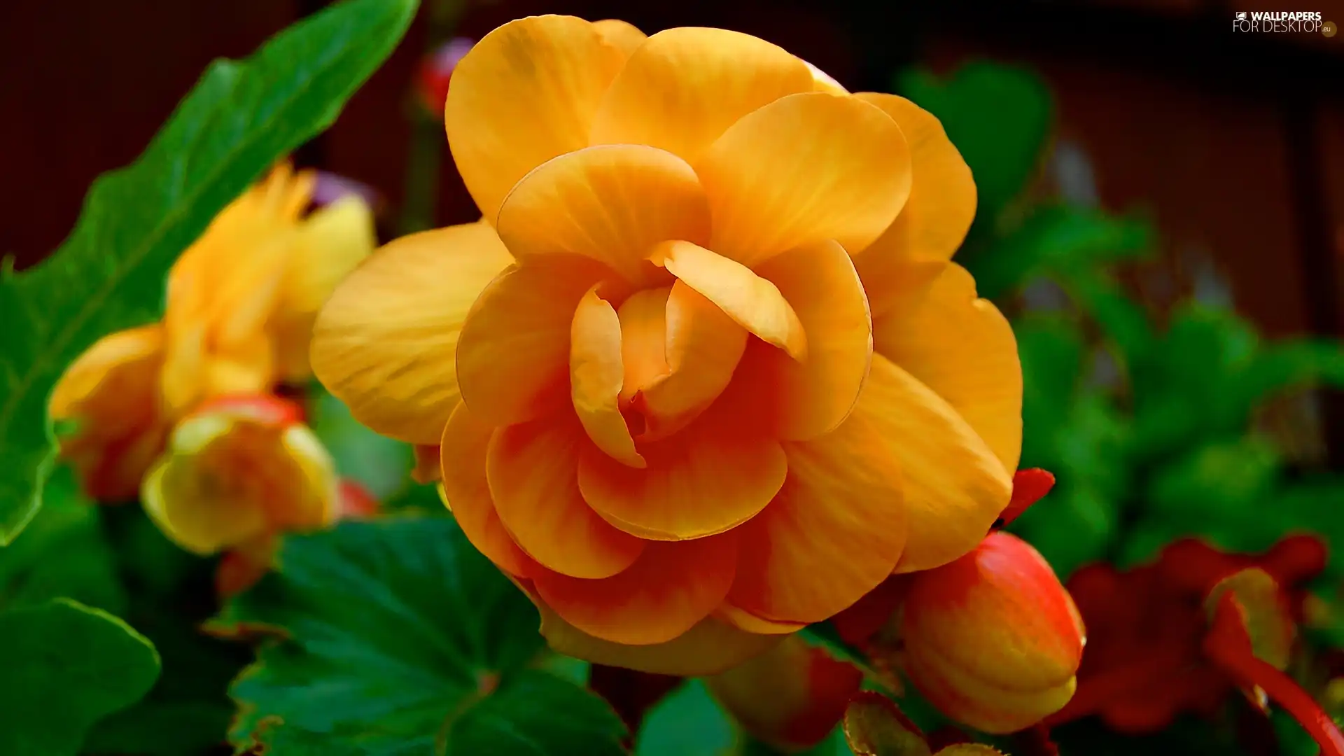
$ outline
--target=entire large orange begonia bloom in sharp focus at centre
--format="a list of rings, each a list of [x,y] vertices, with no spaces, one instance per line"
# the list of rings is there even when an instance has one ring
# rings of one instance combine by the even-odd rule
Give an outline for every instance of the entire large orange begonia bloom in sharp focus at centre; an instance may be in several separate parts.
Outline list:
[[[441,445],[552,646],[714,671],[984,538],[1021,377],[949,262],[974,184],[933,116],[753,36],[538,16],[445,121],[484,218],[358,269],[313,367]]]

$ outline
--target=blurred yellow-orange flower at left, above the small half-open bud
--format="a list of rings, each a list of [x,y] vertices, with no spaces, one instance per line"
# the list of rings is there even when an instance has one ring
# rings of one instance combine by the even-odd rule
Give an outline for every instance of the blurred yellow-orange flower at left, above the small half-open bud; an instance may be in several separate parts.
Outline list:
[[[304,217],[313,183],[271,171],[181,253],[161,323],[105,336],[62,375],[50,413],[74,424],[60,451],[90,496],[134,498],[168,429],[202,401],[309,375],[319,308],[375,245],[358,196]]]

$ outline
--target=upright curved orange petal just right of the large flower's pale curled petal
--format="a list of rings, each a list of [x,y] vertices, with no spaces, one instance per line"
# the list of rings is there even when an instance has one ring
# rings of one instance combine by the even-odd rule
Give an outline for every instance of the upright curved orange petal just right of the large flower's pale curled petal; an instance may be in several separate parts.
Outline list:
[[[793,305],[810,344],[804,362],[762,351],[778,433],[805,440],[833,430],[859,400],[872,362],[868,300],[853,264],[839,243],[823,241],[778,254],[757,273]]]

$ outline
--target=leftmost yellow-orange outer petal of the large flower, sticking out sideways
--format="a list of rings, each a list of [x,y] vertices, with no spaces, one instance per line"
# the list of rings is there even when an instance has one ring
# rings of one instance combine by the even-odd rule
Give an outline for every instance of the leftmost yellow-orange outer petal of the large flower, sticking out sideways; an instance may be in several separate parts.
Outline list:
[[[456,350],[466,313],[509,262],[487,223],[411,234],[351,273],[317,317],[317,378],[356,420],[438,444],[457,406]]]

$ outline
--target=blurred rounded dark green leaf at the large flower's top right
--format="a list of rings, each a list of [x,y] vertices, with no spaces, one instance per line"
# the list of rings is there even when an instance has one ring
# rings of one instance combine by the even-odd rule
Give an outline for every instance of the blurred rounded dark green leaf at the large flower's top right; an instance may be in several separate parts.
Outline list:
[[[1040,165],[1054,104],[1036,74],[989,62],[966,63],[946,79],[903,71],[896,91],[942,121],[976,176],[976,225],[992,225]]]

